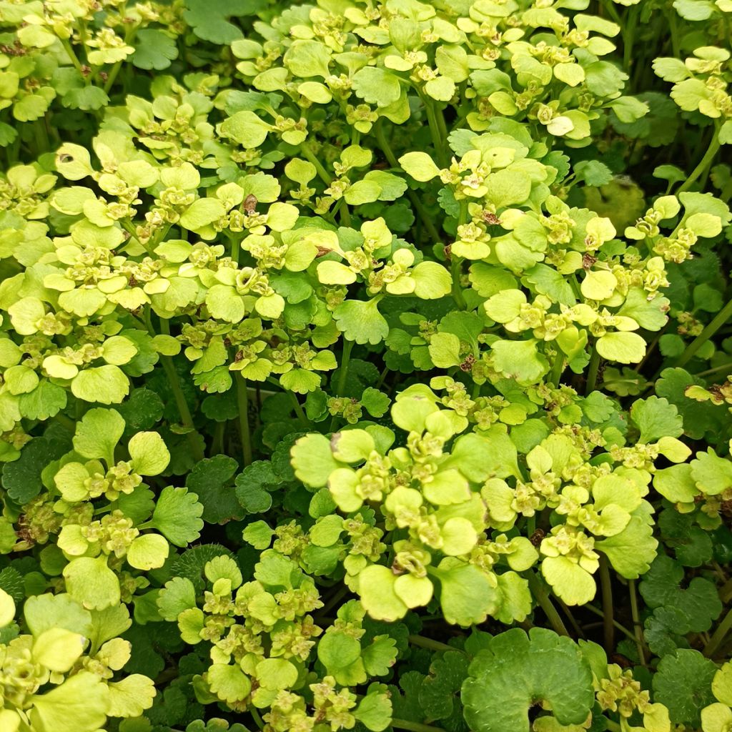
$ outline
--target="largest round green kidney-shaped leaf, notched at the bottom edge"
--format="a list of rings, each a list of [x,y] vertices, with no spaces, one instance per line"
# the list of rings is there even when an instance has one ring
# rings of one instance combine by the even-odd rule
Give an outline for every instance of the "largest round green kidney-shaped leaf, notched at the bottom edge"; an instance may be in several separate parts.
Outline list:
[[[476,732],[529,732],[535,703],[561,725],[580,725],[594,703],[592,672],[578,646],[544,628],[490,638],[463,683],[465,717]]]

